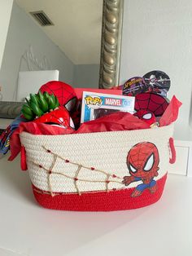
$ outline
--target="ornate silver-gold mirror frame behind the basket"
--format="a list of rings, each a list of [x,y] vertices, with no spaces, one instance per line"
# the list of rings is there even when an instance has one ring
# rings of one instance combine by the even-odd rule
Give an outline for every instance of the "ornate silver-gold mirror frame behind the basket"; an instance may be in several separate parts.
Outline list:
[[[99,88],[110,89],[119,84],[123,6],[124,0],[103,0]],[[0,118],[19,116],[23,104],[0,102]]]

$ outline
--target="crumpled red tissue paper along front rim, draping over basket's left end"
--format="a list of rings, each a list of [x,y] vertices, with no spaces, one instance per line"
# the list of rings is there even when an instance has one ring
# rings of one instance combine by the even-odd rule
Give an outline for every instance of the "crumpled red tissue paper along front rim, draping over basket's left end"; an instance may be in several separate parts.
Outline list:
[[[145,121],[138,120],[137,117],[133,117],[130,113],[112,113],[111,115],[98,118],[94,121],[87,121],[81,125],[78,130],[73,130],[71,127],[66,129],[50,126],[43,123],[36,123],[34,121],[22,122],[18,129],[11,135],[11,157],[9,161],[14,158],[20,152],[20,133],[26,131],[32,135],[68,135],[79,134],[89,132],[101,132],[101,131],[114,131],[114,130],[135,130],[135,129],[147,129],[150,128]]]

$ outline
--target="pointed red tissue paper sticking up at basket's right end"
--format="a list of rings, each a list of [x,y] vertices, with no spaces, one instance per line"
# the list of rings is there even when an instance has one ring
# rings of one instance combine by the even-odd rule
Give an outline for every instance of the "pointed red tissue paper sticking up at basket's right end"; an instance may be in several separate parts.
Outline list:
[[[177,120],[179,108],[181,107],[181,102],[174,95],[172,100],[168,104],[168,108],[166,108],[163,116],[159,120],[160,126],[168,126],[173,121]]]

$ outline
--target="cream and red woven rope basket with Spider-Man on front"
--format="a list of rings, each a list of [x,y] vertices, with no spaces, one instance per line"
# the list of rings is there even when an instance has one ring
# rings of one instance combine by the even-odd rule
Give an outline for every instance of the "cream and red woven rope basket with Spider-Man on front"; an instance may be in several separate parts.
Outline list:
[[[172,133],[171,125],[76,135],[23,132],[20,140],[33,193],[42,206],[56,210],[128,210],[151,205],[162,195]],[[141,145],[147,152],[140,149]],[[150,179],[145,174],[152,169],[146,173],[142,170],[142,178],[130,174],[128,155],[133,166],[141,167],[147,154],[152,156],[147,165],[158,166],[156,174]],[[132,177],[131,182],[124,183],[124,177]]]

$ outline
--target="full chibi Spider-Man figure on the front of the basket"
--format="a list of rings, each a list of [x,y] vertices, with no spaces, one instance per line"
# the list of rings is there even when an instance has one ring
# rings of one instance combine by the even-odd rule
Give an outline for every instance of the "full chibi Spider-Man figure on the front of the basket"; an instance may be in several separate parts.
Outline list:
[[[142,181],[134,189],[132,196],[140,196],[145,189],[151,193],[157,190],[157,184],[154,180],[158,176],[159,170],[159,152],[154,143],[137,143],[130,149],[127,156],[127,166],[130,176],[124,176],[125,186],[130,183]]]

